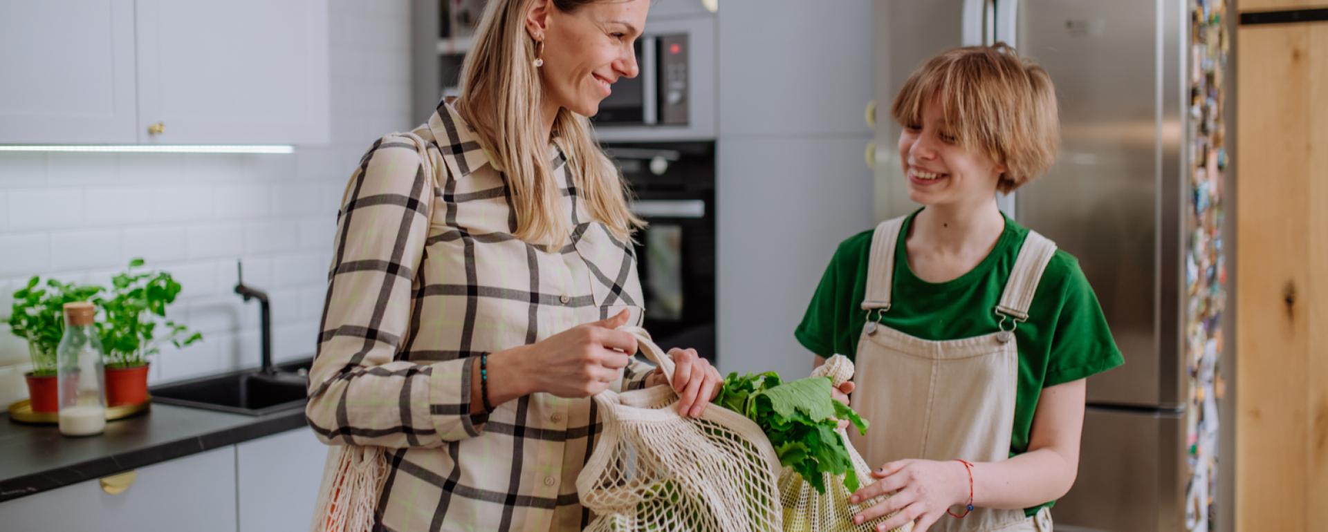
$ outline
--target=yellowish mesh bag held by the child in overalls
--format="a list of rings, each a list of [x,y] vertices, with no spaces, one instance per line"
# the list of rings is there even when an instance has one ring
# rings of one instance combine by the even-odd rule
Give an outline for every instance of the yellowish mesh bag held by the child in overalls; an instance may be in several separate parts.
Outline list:
[[[842,354],[830,357],[826,364],[811,371],[811,377],[830,377],[834,387],[849,382],[853,378],[853,361]],[[879,427],[878,427],[879,430]],[[869,483],[871,480],[871,466],[862,459],[858,450],[849,442],[849,434],[843,429],[838,430],[849,458],[853,460],[853,470],[858,480]],[[793,468],[784,468],[780,474],[780,505],[784,508],[785,532],[875,532],[876,525],[890,516],[876,517],[862,524],[854,524],[853,516],[863,508],[869,508],[884,496],[865,500],[862,504],[849,503],[853,492],[843,486],[843,478],[825,474],[825,494],[818,492],[811,483],[802,478]],[[894,515],[894,513],[891,513]],[[912,523],[895,528],[891,532],[910,532]]]

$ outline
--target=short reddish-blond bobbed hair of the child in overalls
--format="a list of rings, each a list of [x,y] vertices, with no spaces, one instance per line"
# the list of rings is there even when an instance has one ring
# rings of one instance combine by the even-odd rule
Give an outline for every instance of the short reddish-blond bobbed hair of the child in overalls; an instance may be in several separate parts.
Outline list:
[[[890,114],[900,126],[919,125],[928,102],[940,105],[959,146],[1005,166],[996,184],[1001,192],[1024,186],[1056,162],[1060,118],[1052,78],[1004,42],[932,57],[899,89]]]

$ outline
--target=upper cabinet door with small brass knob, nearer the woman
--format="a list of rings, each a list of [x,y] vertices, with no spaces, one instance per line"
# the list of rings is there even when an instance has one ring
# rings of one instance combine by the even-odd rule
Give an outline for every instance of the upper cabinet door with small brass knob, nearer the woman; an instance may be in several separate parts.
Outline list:
[[[327,0],[138,0],[137,21],[141,143],[328,141]]]

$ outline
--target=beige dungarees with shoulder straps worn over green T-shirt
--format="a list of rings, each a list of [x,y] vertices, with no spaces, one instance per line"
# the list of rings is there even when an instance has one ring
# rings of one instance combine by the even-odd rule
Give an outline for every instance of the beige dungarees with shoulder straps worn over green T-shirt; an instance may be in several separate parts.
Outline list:
[[[867,435],[849,431],[872,467],[891,460],[928,459],[997,462],[1009,458],[1015,426],[1019,352],[1013,330],[1028,308],[1056,244],[1029,231],[1000,304],[999,330],[964,340],[931,341],[876,322],[890,312],[895,243],[903,218],[876,227],[871,240],[867,322],[858,341],[853,407],[871,423]],[[942,516],[931,531],[1052,532],[1050,512],[1035,517],[1023,509],[975,508],[967,517]]]

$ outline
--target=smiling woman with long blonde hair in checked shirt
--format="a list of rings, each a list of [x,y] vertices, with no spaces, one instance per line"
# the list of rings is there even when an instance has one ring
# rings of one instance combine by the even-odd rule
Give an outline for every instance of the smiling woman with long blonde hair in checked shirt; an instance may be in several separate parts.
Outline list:
[[[663,383],[641,321],[641,222],[590,134],[649,0],[490,0],[461,97],[376,142],[343,199],[308,422],[316,529],[579,531],[591,395]],[[669,352],[679,410],[722,378]]]

